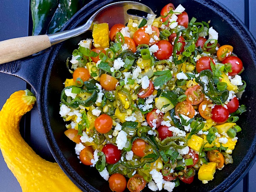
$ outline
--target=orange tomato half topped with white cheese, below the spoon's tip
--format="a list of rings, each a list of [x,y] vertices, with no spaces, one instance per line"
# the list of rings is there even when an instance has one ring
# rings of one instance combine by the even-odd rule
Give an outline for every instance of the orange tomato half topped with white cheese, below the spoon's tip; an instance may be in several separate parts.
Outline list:
[[[133,40],[134,40],[136,46],[138,46],[140,44],[147,44],[150,46],[157,42],[156,39],[153,42],[149,42],[149,41],[150,41],[150,38],[154,39],[155,35],[157,37],[159,37],[159,34],[160,34],[159,29],[155,26],[151,26],[153,33],[148,34],[148,33],[145,33],[145,28],[146,27],[141,27],[137,31],[135,31],[135,33],[133,34]]]

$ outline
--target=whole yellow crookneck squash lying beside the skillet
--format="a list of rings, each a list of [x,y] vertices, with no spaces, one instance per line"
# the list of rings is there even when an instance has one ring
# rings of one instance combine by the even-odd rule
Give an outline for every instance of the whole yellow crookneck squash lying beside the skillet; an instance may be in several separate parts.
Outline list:
[[[80,192],[57,163],[42,159],[21,137],[20,119],[35,102],[36,97],[29,90],[21,90],[12,94],[2,107],[0,148],[5,162],[23,192]]]

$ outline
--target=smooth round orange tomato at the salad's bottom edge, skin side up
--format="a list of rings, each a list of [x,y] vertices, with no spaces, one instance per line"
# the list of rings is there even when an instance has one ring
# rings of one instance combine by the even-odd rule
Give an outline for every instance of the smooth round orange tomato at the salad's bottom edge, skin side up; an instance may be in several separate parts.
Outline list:
[[[110,189],[115,192],[123,192],[126,189],[126,178],[119,173],[115,173],[108,179]]]

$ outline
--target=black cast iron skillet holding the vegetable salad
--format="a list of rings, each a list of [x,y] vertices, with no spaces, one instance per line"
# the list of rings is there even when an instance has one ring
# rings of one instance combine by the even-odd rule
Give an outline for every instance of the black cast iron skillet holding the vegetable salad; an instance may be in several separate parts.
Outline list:
[[[112,2],[115,1],[92,0],[66,23],[64,29],[82,25],[97,9]],[[160,15],[162,7],[170,1],[143,0],[140,2],[148,5],[157,15]],[[217,170],[214,180],[207,185],[202,184],[195,177],[191,185],[185,185],[181,182],[181,185],[176,187],[174,191],[229,191],[245,176],[255,162],[255,39],[239,18],[216,0],[176,0],[173,3],[175,6],[182,4],[190,19],[194,16],[199,22],[202,20],[212,21],[210,25],[219,32],[219,43],[232,45],[234,53],[244,63],[245,71],[242,73],[242,78],[247,83],[246,92],[240,100],[240,105],[245,104],[247,106],[247,112],[242,114],[238,122],[242,127],[242,132],[238,133],[238,144],[232,154],[234,163],[226,165],[222,171]],[[63,134],[65,122],[59,115],[60,93],[64,88],[63,82],[66,78],[71,78],[65,65],[66,58],[71,56],[81,39],[89,36],[91,36],[90,33],[85,33],[49,48],[36,57],[2,64],[0,71],[26,80],[35,90],[47,144],[55,160],[69,178],[83,191],[111,191],[108,182],[103,180],[94,167],[91,168],[79,163],[74,152],[75,143]],[[144,191],[150,190],[145,188]]]

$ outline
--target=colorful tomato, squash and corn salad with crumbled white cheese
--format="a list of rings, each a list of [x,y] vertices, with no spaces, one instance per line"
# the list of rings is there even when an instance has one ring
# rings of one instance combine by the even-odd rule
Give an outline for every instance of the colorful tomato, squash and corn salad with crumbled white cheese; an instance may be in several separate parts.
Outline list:
[[[236,121],[246,111],[242,61],[232,46],[220,46],[210,21],[189,21],[182,5],[127,22],[110,31],[94,24],[93,39],[67,59],[65,135],[112,191],[210,182],[233,163]]]

